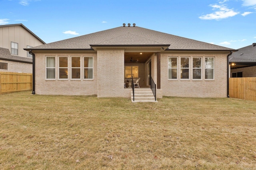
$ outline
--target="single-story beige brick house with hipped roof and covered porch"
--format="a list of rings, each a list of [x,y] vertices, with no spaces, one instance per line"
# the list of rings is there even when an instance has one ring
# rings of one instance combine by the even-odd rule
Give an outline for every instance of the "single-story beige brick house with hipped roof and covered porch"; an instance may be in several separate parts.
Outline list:
[[[230,49],[146,28],[123,26],[25,49],[35,56],[40,95],[130,97],[129,79],[150,76],[157,97],[226,97]]]

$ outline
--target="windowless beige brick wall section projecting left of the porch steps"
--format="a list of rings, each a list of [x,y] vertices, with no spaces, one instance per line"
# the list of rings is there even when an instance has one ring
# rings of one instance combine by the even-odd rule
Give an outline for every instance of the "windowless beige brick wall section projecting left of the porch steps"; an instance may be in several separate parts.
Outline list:
[[[124,50],[98,49],[98,97],[124,96]]]

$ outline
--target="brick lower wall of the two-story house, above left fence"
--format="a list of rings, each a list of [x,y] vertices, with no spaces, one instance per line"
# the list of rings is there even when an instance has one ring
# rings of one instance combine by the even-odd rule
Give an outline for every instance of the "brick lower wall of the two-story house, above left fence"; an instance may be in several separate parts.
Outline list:
[[[8,69],[0,69],[2,72],[32,73],[32,64],[15,61],[0,60],[1,63],[8,63]]]

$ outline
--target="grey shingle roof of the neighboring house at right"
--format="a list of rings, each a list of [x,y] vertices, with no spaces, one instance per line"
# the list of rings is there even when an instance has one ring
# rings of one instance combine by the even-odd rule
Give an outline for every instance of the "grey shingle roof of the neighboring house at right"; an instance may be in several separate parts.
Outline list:
[[[248,45],[229,56],[230,62],[256,62],[256,46]]]

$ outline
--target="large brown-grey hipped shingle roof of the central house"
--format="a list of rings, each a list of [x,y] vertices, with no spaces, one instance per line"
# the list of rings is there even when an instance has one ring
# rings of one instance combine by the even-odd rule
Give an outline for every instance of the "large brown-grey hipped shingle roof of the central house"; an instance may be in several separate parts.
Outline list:
[[[32,47],[32,50],[93,50],[92,47],[117,47],[117,46],[164,46],[167,50],[217,50],[217,51],[236,51],[210,43],[200,42],[166,34],[138,26],[121,26]],[[28,50],[28,49],[26,49]]]

